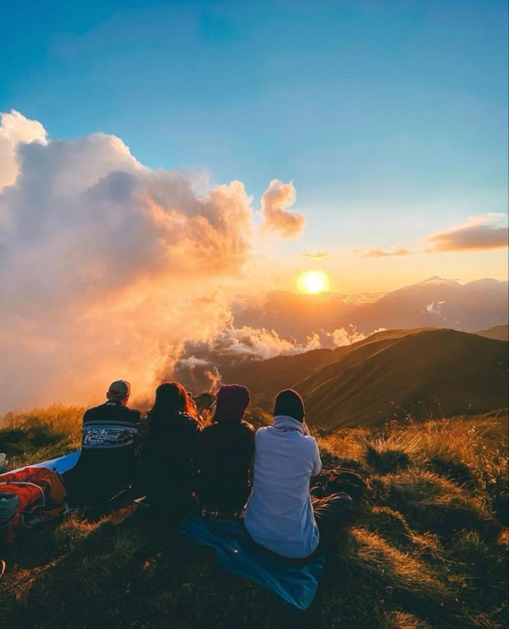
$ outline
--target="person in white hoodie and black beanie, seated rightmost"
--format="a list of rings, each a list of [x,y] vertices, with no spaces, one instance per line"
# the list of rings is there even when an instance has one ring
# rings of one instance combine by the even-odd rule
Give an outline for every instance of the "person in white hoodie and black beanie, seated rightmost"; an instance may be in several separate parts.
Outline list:
[[[255,437],[253,491],[244,525],[256,543],[289,559],[330,550],[340,521],[351,511],[351,498],[333,494],[313,508],[309,481],[321,471],[302,397],[292,389],[279,392],[272,426],[259,428]]]

